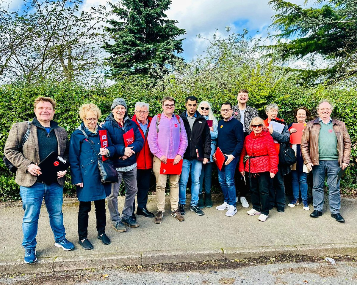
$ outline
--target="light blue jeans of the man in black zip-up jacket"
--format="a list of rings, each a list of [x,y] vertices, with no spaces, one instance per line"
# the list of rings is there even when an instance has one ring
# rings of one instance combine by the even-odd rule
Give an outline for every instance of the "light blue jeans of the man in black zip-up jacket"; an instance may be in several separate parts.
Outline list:
[[[191,206],[198,204],[200,191],[200,175],[203,163],[197,159],[183,159],[182,172],[178,181],[178,204],[186,204],[186,186],[191,172]],[[190,171],[191,170],[191,171]]]

